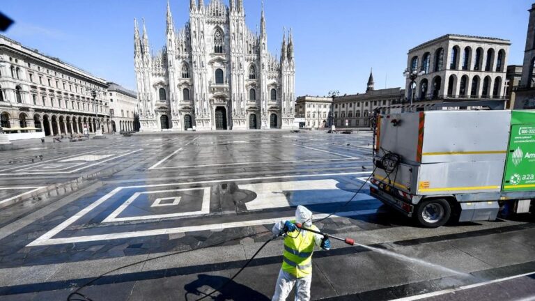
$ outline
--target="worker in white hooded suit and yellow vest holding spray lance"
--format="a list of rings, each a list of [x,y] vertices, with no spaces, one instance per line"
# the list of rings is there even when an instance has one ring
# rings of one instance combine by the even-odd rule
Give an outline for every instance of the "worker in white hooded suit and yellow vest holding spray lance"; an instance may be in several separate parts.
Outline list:
[[[274,235],[286,233],[286,236],[284,237],[282,268],[279,272],[272,301],[286,300],[295,285],[297,285],[295,301],[310,300],[314,245],[318,245],[325,250],[331,248],[331,242],[327,236],[324,237],[310,231],[298,229],[295,223],[302,224],[311,230],[319,231],[318,227],[312,224],[311,211],[304,206],[297,206],[295,220],[278,222],[273,226]]]

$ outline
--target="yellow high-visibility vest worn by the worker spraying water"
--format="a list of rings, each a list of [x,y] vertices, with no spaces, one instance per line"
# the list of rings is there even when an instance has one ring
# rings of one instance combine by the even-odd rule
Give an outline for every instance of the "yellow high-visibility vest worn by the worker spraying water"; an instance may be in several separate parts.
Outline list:
[[[316,226],[309,228],[319,231]],[[311,275],[314,244],[314,234],[310,231],[307,231],[304,236],[299,233],[299,229],[289,232],[284,238],[282,270],[297,278]]]

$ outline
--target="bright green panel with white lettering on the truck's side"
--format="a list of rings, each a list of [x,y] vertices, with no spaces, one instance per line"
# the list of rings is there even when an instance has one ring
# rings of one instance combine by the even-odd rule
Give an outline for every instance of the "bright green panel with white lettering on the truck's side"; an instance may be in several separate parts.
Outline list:
[[[535,111],[513,111],[502,191],[535,190]]]

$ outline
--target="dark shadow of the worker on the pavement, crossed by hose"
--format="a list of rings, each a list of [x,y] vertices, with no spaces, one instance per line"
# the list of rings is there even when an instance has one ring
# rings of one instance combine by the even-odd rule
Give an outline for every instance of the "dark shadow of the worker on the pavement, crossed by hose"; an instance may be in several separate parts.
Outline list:
[[[207,293],[210,293],[212,289],[217,289],[228,281],[228,277],[222,276],[212,276],[206,274],[197,275],[195,281],[190,282],[184,286],[186,291],[184,299],[187,301],[198,300],[199,298],[204,297]],[[199,289],[203,286],[209,286],[208,290],[200,291]],[[258,301],[267,301],[270,298],[267,298],[262,293],[258,293],[252,288],[245,286],[243,284],[238,284],[235,281],[231,281],[221,291],[217,291],[212,296],[204,300],[235,300],[235,301],[249,301],[249,300],[258,300]]]

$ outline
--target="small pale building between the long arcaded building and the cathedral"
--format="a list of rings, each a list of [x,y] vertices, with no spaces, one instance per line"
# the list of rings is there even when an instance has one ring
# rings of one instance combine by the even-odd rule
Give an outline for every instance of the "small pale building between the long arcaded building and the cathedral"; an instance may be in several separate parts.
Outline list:
[[[137,93],[108,82],[108,105],[111,128],[114,132],[139,130]]]

